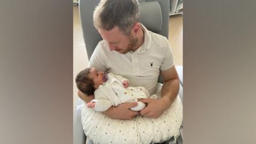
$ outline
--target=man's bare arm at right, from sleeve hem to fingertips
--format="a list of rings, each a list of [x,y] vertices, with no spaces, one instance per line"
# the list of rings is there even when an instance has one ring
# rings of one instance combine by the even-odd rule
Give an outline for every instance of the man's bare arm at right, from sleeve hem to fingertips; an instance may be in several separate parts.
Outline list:
[[[173,66],[168,70],[161,71],[164,79],[161,99],[141,99],[141,102],[148,103],[148,106],[140,111],[141,115],[157,118],[168,109],[179,92],[179,76]]]

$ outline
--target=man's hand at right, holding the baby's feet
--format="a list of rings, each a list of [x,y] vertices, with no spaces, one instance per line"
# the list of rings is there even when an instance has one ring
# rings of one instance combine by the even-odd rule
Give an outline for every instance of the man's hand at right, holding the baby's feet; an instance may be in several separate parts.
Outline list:
[[[171,106],[171,101],[169,98],[161,98],[161,99],[138,99],[143,103],[147,103],[147,107],[140,111],[142,116],[158,118],[161,116],[166,109]]]

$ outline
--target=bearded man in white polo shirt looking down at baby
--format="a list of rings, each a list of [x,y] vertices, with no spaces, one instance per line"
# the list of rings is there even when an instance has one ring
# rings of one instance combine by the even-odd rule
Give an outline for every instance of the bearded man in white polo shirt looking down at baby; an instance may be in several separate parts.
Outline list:
[[[161,99],[141,99],[147,107],[140,112],[130,110],[136,102],[110,107],[104,112],[110,118],[132,119],[136,115],[157,118],[171,106],[179,90],[179,78],[173,65],[172,51],[167,39],[147,30],[139,18],[136,0],[102,0],[95,8],[93,22],[103,40],[98,43],[89,67],[122,75],[131,86],[144,86],[156,92],[158,75],[164,79]],[[78,91],[78,96],[89,102]]]

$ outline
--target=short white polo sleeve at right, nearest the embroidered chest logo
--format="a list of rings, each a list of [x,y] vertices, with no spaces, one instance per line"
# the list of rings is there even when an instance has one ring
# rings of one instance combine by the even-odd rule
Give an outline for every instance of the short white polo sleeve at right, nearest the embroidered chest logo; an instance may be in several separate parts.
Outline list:
[[[166,39],[167,40],[167,39]],[[165,51],[163,53],[164,58],[160,70],[167,70],[174,66],[173,52],[169,41],[165,43]]]

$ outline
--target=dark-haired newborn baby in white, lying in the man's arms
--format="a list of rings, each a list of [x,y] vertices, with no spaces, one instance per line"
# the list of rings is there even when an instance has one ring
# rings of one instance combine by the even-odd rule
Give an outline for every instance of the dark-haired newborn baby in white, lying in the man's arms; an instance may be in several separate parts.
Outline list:
[[[149,97],[157,99],[157,95],[150,96],[145,87],[129,86],[128,79],[113,73],[106,74],[95,68],[86,68],[78,73],[76,85],[81,92],[87,95],[94,94],[95,99],[88,102],[87,107],[96,111],[106,111],[111,106],[116,107],[126,102],[137,102],[138,105],[130,109],[139,111],[146,105],[138,99]]]

